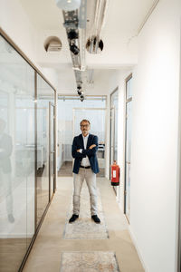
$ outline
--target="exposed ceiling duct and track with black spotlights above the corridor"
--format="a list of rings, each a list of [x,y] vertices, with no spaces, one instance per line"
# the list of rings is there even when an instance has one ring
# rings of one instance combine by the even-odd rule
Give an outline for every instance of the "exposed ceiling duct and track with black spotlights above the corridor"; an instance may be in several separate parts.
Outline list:
[[[86,49],[89,53],[100,53],[103,50],[104,44],[100,39],[100,31],[105,21],[108,1],[55,0],[56,5],[62,8],[63,25],[66,29],[71,52],[72,69],[75,74],[77,92],[80,95],[81,101],[84,100],[86,84],[93,83],[93,71],[91,70],[91,73],[89,73],[89,70],[87,71],[86,68],[85,52]],[[71,10],[71,5],[68,8],[71,2],[74,2],[74,10]],[[89,12],[89,20],[87,12]],[[87,24],[87,22],[89,23]],[[87,35],[86,32],[89,34]]]

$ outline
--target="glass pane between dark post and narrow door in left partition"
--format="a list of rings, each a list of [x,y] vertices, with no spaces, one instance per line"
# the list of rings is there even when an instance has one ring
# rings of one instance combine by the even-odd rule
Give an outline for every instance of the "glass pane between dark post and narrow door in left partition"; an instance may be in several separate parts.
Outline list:
[[[49,102],[54,92],[37,74],[37,219],[40,222],[49,202]]]

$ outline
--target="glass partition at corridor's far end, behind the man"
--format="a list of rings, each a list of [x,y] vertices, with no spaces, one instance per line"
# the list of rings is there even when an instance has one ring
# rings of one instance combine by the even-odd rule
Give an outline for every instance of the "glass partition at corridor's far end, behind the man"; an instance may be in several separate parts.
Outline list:
[[[71,144],[75,135],[81,134],[80,121],[90,120],[90,133],[98,135],[99,177],[105,176],[106,149],[106,97],[86,96],[81,102],[79,96],[59,96],[58,98],[58,150],[57,170],[59,176],[72,176]]]

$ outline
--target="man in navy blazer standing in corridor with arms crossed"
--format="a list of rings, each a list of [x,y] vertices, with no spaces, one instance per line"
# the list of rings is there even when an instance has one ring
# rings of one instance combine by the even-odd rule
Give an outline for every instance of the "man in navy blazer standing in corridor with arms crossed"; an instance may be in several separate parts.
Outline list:
[[[81,134],[74,137],[72,143],[71,154],[74,160],[73,165],[73,214],[69,223],[79,218],[81,187],[83,181],[86,180],[90,192],[90,214],[91,219],[99,224],[100,219],[97,215],[97,187],[96,174],[99,172],[98,159],[96,152],[98,151],[98,137],[89,134],[90,121],[82,120]]]

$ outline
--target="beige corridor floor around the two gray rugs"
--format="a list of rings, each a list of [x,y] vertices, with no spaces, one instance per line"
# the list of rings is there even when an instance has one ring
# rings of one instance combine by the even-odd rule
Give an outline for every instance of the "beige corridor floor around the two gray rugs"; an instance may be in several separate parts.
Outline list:
[[[28,257],[24,272],[61,272],[62,256],[78,252],[114,253],[120,272],[144,271],[136,248],[129,237],[127,220],[119,209],[109,180],[98,178],[97,183],[109,238],[64,238],[71,207],[72,178],[59,177],[58,189]],[[68,269],[62,271],[68,272]],[[70,271],[80,272],[76,267]],[[85,268],[83,272],[87,271],[88,269]],[[100,268],[89,271],[105,272]],[[110,271],[118,270],[110,269]]]

